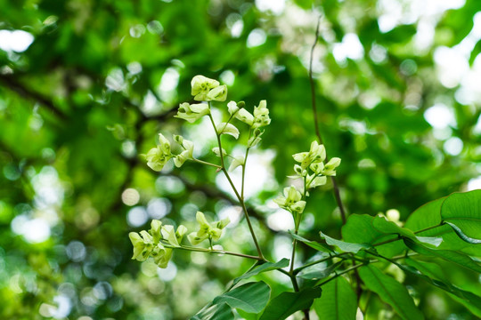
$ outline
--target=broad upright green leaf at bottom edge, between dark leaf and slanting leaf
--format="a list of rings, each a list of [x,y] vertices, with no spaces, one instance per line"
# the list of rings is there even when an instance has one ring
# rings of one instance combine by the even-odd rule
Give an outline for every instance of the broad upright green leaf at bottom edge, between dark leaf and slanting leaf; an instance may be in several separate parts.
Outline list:
[[[322,285],[322,297],[314,300],[314,310],[322,320],[355,319],[357,298],[346,278],[338,276]]]

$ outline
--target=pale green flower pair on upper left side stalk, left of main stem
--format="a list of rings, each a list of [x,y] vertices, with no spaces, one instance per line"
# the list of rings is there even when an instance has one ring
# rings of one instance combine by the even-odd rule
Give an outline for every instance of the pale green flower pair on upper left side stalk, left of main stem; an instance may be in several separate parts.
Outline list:
[[[171,152],[169,140],[167,140],[162,133],[159,133],[160,144],[155,148],[151,148],[147,155],[145,155],[147,165],[153,171],[161,171],[168,160],[172,158],[174,158],[174,164],[177,168],[181,167],[186,160],[193,159],[193,142],[183,139],[183,137],[179,135],[174,135],[174,140],[183,148],[183,151],[178,155],[174,155]]]

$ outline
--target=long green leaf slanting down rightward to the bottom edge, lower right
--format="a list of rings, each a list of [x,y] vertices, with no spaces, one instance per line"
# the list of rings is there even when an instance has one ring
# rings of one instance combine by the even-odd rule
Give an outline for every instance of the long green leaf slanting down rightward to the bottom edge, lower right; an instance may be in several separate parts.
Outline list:
[[[403,319],[424,319],[404,285],[382,273],[379,268],[371,265],[361,267],[359,268],[359,276],[371,292],[376,292],[379,298],[393,307],[395,312]]]

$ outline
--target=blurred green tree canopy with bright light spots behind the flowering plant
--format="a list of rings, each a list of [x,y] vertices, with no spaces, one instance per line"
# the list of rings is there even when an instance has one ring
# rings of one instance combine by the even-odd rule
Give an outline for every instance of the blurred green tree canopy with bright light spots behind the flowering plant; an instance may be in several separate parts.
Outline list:
[[[214,170],[191,163],[157,174],[139,156],[160,130],[200,141],[200,157],[215,147],[206,126],[173,118],[195,75],[220,79],[228,99],[249,108],[267,100],[273,121],[249,160],[248,203],[269,258],[288,255],[290,217],[272,199],[289,183],[291,155],[315,139],[308,66],[319,17],[319,121],[328,154],[342,158],[347,212],[395,209],[405,220],[477,186],[477,0],[0,0],[0,8],[3,319],[185,319],[249,268],[199,252],[176,252],[167,269],[131,260],[129,231],[151,219],[193,228],[198,210],[234,221],[224,247],[254,251]],[[306,237],[339,236],[332,186],[322,189],[306,208]],[[477,275],[444,270],[481,294]],[[473,318],[444,292],[406,281],[429,319]],[[395,318],[376,303],[366,318]]]

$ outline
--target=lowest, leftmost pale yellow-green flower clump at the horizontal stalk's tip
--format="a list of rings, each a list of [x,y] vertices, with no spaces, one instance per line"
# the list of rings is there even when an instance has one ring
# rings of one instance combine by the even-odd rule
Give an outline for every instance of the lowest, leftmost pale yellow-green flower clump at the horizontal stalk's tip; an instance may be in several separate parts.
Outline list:
[[[140,234],[136,232],[128,234],[134,245],[132,259],[145,261],[152,257],[159,268],[167,268],[167,263],[172,258],[173,247],[180,247],[186,232],[187,228],[183,225],[175,231],[174,226],[162,226],[161,221],[152,220],[149,232],[143,230]]]

